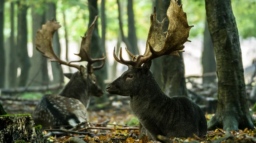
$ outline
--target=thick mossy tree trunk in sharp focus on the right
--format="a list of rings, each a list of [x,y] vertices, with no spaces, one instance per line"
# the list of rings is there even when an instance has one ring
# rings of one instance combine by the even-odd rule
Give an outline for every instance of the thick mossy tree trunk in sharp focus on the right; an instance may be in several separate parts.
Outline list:
[[[217,63],[218,107],[208,129],[253,129],[244,84],[239,34],[230,0],[205,0]]]

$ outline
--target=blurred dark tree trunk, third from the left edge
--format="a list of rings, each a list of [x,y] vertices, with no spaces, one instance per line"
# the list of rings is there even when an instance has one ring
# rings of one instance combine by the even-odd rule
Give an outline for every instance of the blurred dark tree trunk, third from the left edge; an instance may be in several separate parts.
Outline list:
[[[20,78],[19,78],[19,86],[24,87],[29,78],[29,68],[31,66],[30,59],[28,55],[27,49],[27,21],[26,14],[28,7],[26,5],[22,5],[19,1],[18,3],[18,33],[17,33],[17,48],[18,48],[18,58],[19,58],[19,66],[20,66]]]

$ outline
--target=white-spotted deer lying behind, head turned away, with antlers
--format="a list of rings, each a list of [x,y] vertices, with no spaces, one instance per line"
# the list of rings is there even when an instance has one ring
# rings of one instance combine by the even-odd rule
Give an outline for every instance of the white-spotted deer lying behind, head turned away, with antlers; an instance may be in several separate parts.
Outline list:
[[[67,85],[58,94],[44,95],[35,107],[33,118],[35,124],[41,124],[43,127],[54,126],[76,126],[87,120],[87,107],[90,103],[90,96],[101,97],[104,95],[99,84],[97,84],[94,70],[101,69],[105,64],[105,56],[102,58],[92,59],[90,57],[90,44],[95,22],[88,28],[86,35],[82,37],[79,56],[82,62],[87,61],[87,66],[71,64],[61,60],[54,52],[52,39],[53,34],[61,27],[55,20],[47,21],[42,25],[42,29],[36,34],[36,49],[49,58],[52,62],[58,62],[69,67],[75,67],[79,71],[76,73],[66,73],[64,76],[70,79]],[[93,67],[94,62],[103,61],[102,65]],[[69,127],[66,127],[69,128]]]

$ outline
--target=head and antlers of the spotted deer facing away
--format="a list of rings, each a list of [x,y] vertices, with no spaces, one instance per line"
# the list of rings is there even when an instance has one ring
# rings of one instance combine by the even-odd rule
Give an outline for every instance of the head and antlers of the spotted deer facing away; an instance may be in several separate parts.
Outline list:
[[[46,58],[50,59],[51,62],[58,62],[59,64],[64,64],[69,67],[75,67],[79,71],[76,73],[65,73],[64,76],[70,79],[70,84],[76,83],[80,85],[86,85],[89,87],[87,89],[87,92],[89,92],[89,95],[94,95],[97,97],[103,96],[104,92],[102,91],[101,87],[97,83],[96,76],[94,75],[94,70],[101,69],[105,64],[105,56],[103,53],[103,57],[99,59],[92,59],[90,56],[90,44],[93,34],[93,29],[95,26],[95,22],[98,19],[98,16],[95,17],[94,21],[88,28],[85,36],[82,37],[81,41],[81,48],[80,52],[78,54],[75,54],[79,56],[81,59],[79,61],[72,61],[72,62],[66,62],[61,60],[54,52],[52,40],[53,35],[55,31],[58,30],[58,28],[61,27],[58,22],[56,22],[54,19],[51,21],[47,21],[46,24],[42,25],[42,29],[38,30],[36,34],[36,40],[35,45],[36,49],[43,54]],[[72,64],[73,62],[87,62],[87,66],[78,65],[78,64]],[[102,65],[98,67],[94,67],[93,63],[103,61]],[[83,87],[86,88],[86,87]]]

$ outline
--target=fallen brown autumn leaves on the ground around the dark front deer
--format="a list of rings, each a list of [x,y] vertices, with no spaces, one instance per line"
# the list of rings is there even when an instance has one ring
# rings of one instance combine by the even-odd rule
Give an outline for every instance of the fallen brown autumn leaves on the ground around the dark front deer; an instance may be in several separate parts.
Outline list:
[[[90,135],[79,135],[79,134],[65,134],[60,137],[50,136],[48,140],[53,143],[65,143],[70,137],[80,137],[86,143],[159,143],[159,141],[149,140],[148,137],[138,138],[140,133],[138,130],[139,121],[132,114],[131,110],[122,109],[120,111],[113,110],[100,110],[100,111],[89,111],[89,121],[96,127],[107,127],[104,129],[88,129],[84,132],[90,132]],[[207,114],[207,121],[212,118],[214,114]],[[255,117],[255,115],[253,115]],[[104,123],[104,122],[108,123]],[[133,127],[133,129],[122,129],[119,128]],[[77,130],[81,129],[79,126]],[[76,131],[77,131],[76,130]],[[47,131],[43,132],[45,135]],[[231,131],[227,133],[222,129],[215,129],[208,131],[207,135],[200,138],[196,135],[193,137],[170,137],[166,143],[256,143],[256,128],[244,129],[239,131]],[[165,143],[165,141],[162,141]]]

